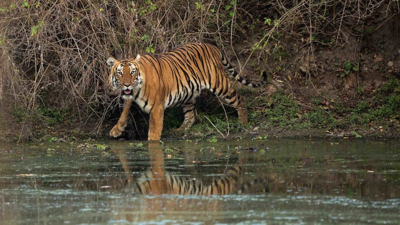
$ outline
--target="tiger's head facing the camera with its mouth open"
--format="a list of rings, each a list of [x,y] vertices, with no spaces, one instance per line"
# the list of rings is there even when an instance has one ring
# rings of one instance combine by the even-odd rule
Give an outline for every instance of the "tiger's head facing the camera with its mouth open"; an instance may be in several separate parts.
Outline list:
[[[107,59],[107,64],[111,67],[110,85],[116,90],[121,90],[123,98],[132,98],[133,93],[142,88],[143,77],[139,59],[139,54],[134,59],[116,60],[112,57]]]

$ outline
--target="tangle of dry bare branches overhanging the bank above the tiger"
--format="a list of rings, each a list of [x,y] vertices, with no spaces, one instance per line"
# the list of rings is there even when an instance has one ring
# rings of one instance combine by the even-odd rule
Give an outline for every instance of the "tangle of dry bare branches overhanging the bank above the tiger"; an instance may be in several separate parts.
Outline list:
[[[0,94],[30,112],[68,108],[100,127],[116,105],[105,85],[108,56],[162,53],[192,41],[233,47],[250,38],[244,52],[266,58],[293,34],[311,50],[316,42],[335,46],[346,42],[348,18],[364,22],[385,7],[390,14],[392,2],[7,0],[0,3]]]

